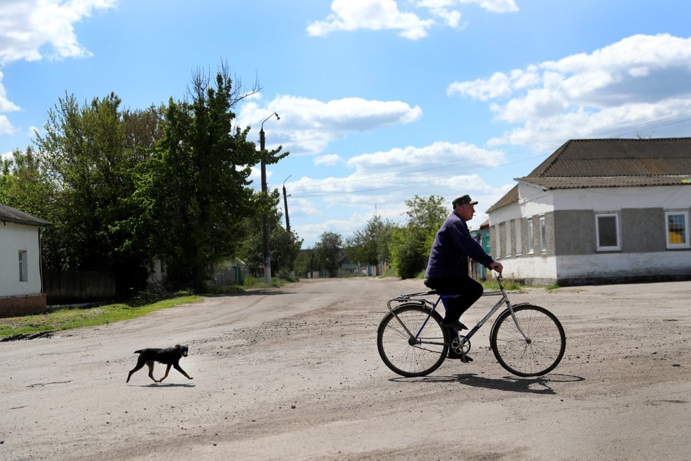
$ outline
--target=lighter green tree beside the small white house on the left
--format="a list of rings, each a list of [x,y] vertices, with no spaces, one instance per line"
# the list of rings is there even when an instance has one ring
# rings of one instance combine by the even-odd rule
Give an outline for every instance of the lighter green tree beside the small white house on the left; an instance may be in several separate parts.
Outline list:
[[[146,152],[128,141],[136,123],[124,126],[120,103],[114,93],[83,105],[66,95],[49,111],[35,146],[54,187],[45,267],[114,272],[123,296],[146,282],[148,255],[128,245],[131,235],[118,225],[131,214],[126,199],[134,193],[132,172]]]

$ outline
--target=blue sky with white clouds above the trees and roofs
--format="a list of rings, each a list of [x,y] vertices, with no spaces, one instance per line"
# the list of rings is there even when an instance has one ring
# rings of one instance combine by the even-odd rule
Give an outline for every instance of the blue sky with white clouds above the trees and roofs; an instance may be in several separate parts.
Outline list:
[[[682,0],[1,0],[0,154],[65,94],[182,99],[227,62],[312,247],[415,194],[489,206],[569,139],[691,136]],[[691,154],[690,154],[691,155]],[[254,171],[259,188],[259,167]],[[281,204],[283,206],[283,204]]]

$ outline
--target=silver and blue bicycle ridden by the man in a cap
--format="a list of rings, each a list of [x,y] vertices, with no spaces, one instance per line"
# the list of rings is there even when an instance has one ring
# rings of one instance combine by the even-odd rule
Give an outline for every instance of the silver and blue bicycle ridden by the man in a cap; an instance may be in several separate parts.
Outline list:
[[[389,313],[377,328],[379,356],[392,371],[409,378],[425,376],[444,363],[449,349],[466,356],[471,350],[471,337],[485,325],[497,310],[506,304],[497,316],[490,332],[490,346],[502,367],[518,376],[541,376],[554,370],[566,349],[566,335],[553,313],[538,305],[519,303],[512,305],[497,276],[499,291],[483,296],[501,295],[487,315],[468,334],[442,327],[442,316],[436,308],[443,299],[456,295],[439,295],[436,290],[398,296],[389,300]],[[424,296],[439,295],[432,303]],[[398,305],[392,307],[393,303]]]

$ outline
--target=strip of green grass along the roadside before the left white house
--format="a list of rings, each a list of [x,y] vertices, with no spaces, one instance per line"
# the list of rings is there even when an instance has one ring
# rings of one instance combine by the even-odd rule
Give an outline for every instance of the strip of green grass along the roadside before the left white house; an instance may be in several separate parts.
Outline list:
[[[202,296],[170,298],[138,307],[127,304],[109,304],[88,309],[60,309],[40,315],[7,317],[0,319],[0,338],[17,334],[52,332],[79,327],[95,327],[107,323],[129,320],[155,310],[173,308],[182,304],[199,303]]]

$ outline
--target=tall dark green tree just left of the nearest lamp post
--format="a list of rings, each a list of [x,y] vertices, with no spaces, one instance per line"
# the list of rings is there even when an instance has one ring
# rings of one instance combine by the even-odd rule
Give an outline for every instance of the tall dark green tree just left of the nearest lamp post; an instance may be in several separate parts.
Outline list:
[[[196,291],[203,291],[208,267],[240,250],[249,221],[276,204],[271,195],[254,194],[249,187],[261,153],[247,141],[249,127],[234,126],[232,112],[247,95],[232,86],[226,66],[213,88],[198,72],[191,101],[168,103],[155,157],[138,173],[136,203],[146,216],[143,227],[152,229],[150,244],[169,276],[191,280]],[[264,161],[276,163],[288,155],[279,151],[265,152]]]

